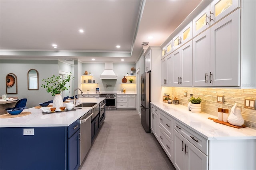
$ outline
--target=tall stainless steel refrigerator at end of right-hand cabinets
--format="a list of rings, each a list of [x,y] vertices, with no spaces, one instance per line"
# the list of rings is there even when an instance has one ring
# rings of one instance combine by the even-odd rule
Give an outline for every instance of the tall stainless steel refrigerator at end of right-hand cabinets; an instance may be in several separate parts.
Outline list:
[[[146,132],[150,130],[151,71],[141,74],[140,121]]]

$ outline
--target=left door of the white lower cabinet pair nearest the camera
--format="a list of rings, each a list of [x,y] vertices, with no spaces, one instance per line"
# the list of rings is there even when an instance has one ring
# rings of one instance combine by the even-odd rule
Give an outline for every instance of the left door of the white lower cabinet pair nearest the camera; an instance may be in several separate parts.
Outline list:
[[[186,169],[185,142],[186,139],[174,130],[174,166],[177,170]]]

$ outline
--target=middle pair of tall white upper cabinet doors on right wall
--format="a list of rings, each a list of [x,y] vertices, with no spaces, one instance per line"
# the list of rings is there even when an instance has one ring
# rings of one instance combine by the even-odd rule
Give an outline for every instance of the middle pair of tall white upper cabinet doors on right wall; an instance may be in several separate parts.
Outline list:
[[[192,85],[192,41],[172,53],[174,86]]]

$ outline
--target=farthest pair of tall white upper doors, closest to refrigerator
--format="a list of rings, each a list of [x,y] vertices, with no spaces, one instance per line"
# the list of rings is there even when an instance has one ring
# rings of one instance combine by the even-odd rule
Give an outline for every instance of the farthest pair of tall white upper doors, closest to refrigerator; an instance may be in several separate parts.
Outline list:
[[[172,55],[161,60],[161,86],[172,85]]]

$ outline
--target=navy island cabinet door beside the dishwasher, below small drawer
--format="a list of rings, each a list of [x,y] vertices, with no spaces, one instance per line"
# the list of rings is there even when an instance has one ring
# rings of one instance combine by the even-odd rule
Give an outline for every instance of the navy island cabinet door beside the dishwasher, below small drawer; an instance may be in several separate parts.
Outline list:
[[[80,166],[80,140],[78,129],[73,136],[68,139],[68,169],[78,170]]]

